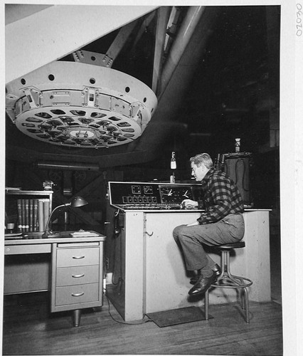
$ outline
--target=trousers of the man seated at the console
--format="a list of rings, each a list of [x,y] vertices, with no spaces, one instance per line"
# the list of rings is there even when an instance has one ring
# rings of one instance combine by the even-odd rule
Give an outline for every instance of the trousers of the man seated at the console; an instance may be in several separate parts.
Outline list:
[[[244,229],[243,215],[229,214],[213,224],[176,226],[173,235],[182,248],[187,270],[194,271],[215,265],[204,251],[203,244],[218,246],[238,242],[243,239]]]

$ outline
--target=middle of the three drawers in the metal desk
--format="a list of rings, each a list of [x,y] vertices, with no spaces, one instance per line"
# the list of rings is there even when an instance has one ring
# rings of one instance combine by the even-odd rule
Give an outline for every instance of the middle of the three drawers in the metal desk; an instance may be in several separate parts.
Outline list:
[[[73,266],[57,269],[56,286],[73,286],[75,284],[99,283],[99,265]]]

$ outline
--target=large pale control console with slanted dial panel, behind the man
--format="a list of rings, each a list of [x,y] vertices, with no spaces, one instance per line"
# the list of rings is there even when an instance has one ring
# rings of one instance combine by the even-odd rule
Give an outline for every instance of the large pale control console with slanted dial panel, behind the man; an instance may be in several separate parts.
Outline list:
[[[180,248],[172,235],[176,226],[191,224],[200,209],[181,209],[184,199],[203,200],[201,184],[161,182],[109,182],[110,204],[116,210],[115,267],[107,295],[125,321],[145,313],[195,305],[203,298],[189,298],[191,288]],[[245,248],[235,251],[230,266],[253,281],[250,300],[270,301],[270,248],[268,209],[245,209]],[[220,256],[210,253],[219,263]],[[234,290],[216,288],[211,303],[236,298]],[[197,299],[197,300],[196,300]]]

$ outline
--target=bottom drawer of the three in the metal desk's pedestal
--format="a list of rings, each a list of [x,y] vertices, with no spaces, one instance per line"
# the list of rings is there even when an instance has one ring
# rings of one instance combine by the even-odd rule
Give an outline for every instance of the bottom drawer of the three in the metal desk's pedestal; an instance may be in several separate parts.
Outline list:
[[[80,284],[55,288],[55,305],[96,302],[99,300],[99,283]]]

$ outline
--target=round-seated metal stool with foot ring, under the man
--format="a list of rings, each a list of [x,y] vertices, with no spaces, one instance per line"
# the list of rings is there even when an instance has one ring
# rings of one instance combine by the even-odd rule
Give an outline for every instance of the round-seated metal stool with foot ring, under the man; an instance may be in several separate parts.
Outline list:
[[[216,283],[211,285],[211,288],[240,288],[241,289],[241,302],[242,308],[246,312],[246,323],[250,322],[249,305],[248,305],[248,290],[247,287],[252,285],[252,281],[245,277],[233,276],[230,273],[230,251],[234,248],[245,247],[245,242],[240,241],[235,244],[225,244],[216,246],[221,253],[221,274],[218,277]],[[209,289],[211,289],[209,288]],[[208,305],[209,305],[209,289],[205,293],[205,315],[208,320]]]

